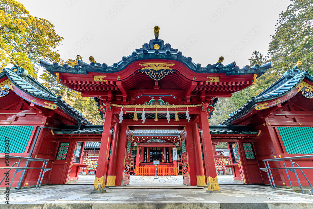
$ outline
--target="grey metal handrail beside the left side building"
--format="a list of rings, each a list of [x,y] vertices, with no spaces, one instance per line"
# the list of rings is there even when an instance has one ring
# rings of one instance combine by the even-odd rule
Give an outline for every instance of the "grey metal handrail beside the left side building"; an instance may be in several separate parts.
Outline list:
[[[15,162],[13,165],[15,164],[18,164],[17,167],[13,167],[13,165],[11,167],[0,167],[0,169],[9,169],[8,172],[10,172],[11,169],[15,169],[14,171],[14,174],[13,174],[13,178],[11,180],[11,183],[9,185],[9,192],[11,190],[11,186],[13,184],[13,181],[14,181],[14,177],[16,175],[16,173],[20,172],[20,171],[26,171],[26,170],[29,170],[29,169],[40,169],[40,174],[39,174],[39,177],[38,177],[38,181],[37,181],[37,184],[36,184],[36,188],[35,189],[39,189],[40,188],[40,185],[41,185],[41,182],[44,178],[44,173],[48,170],[51,170],[52,168],[47,168],[47,164],[48,164],[48,161],[49,159],[44,159],[44,158],[32,158],[32,157],[22,157],[22,156],[13,156],[13,155],[3,155],[3,154],[0,154],[0,158],[5,158],[5,157],[8,157],[8,158],[15,158],[15,159],[19,159],[18,162]],[[25,162],[25,166],[28,166],[28,162],[29,161],[44,161],[43,165],[41,168],[34,168],[34,167],[19,167],[20,163],[21,163],[21,160],[22,159],[26,159],[26,162]],[[6,175],[4,175],[2,181],[0,182],[0,185],[1,183],[3,182],[3,180],[5,179]],[[40,182],[39,182],[40,180]],[[22,181],[23,181],[23,175],[20,177],[20,180],[18,181],[18,186],[15,188],[15,189],[20,189],[21,187],[21,184],[22,184]]]

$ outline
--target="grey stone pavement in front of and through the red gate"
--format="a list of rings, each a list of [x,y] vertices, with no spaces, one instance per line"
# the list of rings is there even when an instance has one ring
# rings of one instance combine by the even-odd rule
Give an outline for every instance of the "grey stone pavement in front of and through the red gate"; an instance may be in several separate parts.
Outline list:
[[[137,177],[140,183],[150,180]],[[179,180],[179,177],[172,177]],[[90,177],[91,179],[91,177]],[[162,178],[166,180],[167,178]],[[168,180],[172,180],[169,178]],[[133,183],[136,183],[133,182]],[[0,196],[0,208],[312,208],[313,196],[266,185],[220,185],[222,193],[206,193],[207,188],[190,189],[121,189],[110,187],[103,194],[90,194],[93,185],[67,184],[44,185],[39,190],[28,189],[10,194],[10,205],[4,204]],[[181,184],[181,182],[159,182],[159,184]],[[152,183],[151,183],[152,184]]]

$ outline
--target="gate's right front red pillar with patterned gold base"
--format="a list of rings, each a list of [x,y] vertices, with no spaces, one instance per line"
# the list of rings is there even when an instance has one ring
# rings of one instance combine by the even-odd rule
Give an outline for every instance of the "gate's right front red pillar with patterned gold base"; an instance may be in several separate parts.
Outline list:
[[[212,139],[209,128],[208,114],[206,106],[200,107],[200,121],[201,121],[201,138],[203,156],[206,170],[206,178],[208,182],[208,193],[220,192],[218,186],[218,179],[215,169],[214,154],[212,147]]]

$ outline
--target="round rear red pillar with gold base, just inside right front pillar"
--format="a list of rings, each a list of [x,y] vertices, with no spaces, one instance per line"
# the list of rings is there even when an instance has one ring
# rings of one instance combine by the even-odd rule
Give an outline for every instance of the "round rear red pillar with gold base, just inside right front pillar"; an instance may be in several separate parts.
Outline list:
[[[201,143],[200,143],[198,123],[192,124],[192,135],[193,135],[193,141],[194,141],[194,145],[195,145],[194,148],[195,148],[195,155],[196,155],[195,156],[195,158],[196,158],[195,163],[196,163],[197,185],[198,186],[205,186],[205,177],[204,177],[204,169],[203,169],[203,160],[202,160],[202,153],[201,153]]]

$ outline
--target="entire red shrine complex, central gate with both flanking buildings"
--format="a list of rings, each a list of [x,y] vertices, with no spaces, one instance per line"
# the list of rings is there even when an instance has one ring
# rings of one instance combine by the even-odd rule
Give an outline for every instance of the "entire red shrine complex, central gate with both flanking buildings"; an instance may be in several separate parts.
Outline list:
[[[302,132],[311,143],[313,114],[308,112],[313,111],[313,78],[298,69],[299,62],[223,123],[213,126],[209,123],[218,98],[231,97],[255,84],[272,67],[270,62],[240,68],[235,62],[222,64],[223,57],[216,59],[206,66],[194,63],[164,44],[156,26],[149,44],[113,65],[100,64],[94,57],[89,64],[79,60],[74,66],[41,60],[41,66],[60,84],[83,97],[95,98],[102,125],[91,124],[18,65],[3,69],[0,135],[19,144],[12,155],[49,159],[51,170],[44,173],[42,184],[78,180],[79,172],[87,174],[84,162],[90,162],[88,172],[95,173],[92,192],[101,193],[105,186],[129,184],[131,175],[155,175],[153,161],[159,160],[158,175],[182,175],[186,185],[207,185],[209,193],[219,192],[217,159],[223,161],[215,150],[219,142],[228,144],[228,168],[234,180],[269,184],[266,172],[260,170],[263,159],[313,151],[299,151],[294,146],[299,142],[285,134],[309,128]],[[311,161],[299,163],[305,167]],[[273,165],[281,167],[280,162]],[[29,166],[41,165],[30,162]],[[19,172],[12,185],[36,185],[39,172]],[[276,185],[290,186],[285,173],[277,174]],[[297,180],[290,178],[296,185]],[[300,181],[307,184],[305,179]]]

